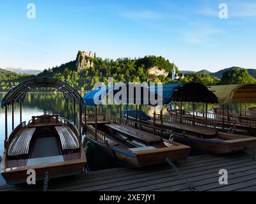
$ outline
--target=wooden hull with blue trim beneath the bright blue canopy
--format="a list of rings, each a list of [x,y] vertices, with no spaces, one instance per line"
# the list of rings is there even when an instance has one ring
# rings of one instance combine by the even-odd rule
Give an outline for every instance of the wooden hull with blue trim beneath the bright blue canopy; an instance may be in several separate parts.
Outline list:
[[[190,152],[190,147],[186,145],[106,119],[105,123],[103,119],[97,123],[96,131],[96,123],[91,121],[84,124],[88,140],[122,166],[141,167],[165,163],[165,157],[178,161],[188,157]]]

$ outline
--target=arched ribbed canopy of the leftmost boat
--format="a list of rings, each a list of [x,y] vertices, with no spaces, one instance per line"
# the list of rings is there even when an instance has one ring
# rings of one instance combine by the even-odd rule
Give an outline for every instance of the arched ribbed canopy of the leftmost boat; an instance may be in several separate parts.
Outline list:
[[[69,99],[70,101],[76,101],[77,103],[83,103],[83,98],[80,96],[79,92],[77,92],[74,87],[69,85],[67,82],[62,82],[56,78],[32,78],[21,82],[16,87],[12,88],[2,99],[0,105],[3,108],[6,105],[10,105],[10,103],[19,102],[23,100],[26,94],[35,89],[35,88],[54,88],[63,93],[65,99]]]

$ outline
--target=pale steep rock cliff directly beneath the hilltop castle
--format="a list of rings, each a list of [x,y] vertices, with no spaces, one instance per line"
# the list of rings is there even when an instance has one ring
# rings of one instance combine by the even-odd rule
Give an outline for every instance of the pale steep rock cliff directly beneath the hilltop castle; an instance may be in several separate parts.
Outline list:
[[[77,71],[82,71],[86,68],[92,67],[93,66],[93,52],[90,51],[88,52],[81,52],[79,51],[76,57],[76,67],[77,67]]]

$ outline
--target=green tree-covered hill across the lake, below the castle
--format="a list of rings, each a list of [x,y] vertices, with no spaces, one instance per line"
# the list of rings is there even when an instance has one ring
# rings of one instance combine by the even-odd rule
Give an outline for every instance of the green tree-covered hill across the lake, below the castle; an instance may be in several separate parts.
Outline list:
[[[77,71],[77,66],[83,62],[86,64],[81,71]],[[88,63],[90,61],[90,63]],[[89,65],[88,65],[89,64]],[[38,77],[54,77],[68,82],[70,85],[81,90],[92,89],[95,82],[108,84],[108,77],[113,77],[114,82],[147,82],[150,68],[172,72],[173,64],[164,57],[145,56],[139,59],[120,58],[102,59],[101,57],[81,57],[81,51],[77,54],[76,61],[70,61],[61,66],[45,69]],[[176,67],[177,71],[178,68]],[[164,75],[154,76],[155,82],[168,84],[170,78]]]

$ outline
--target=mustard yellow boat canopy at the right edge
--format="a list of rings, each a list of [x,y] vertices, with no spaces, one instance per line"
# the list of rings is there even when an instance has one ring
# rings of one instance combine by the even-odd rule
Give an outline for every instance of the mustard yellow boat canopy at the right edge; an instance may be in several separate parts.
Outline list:
[[[256,103],[256,85],[214,85],[208,89],[218,97],[220,105]]]

